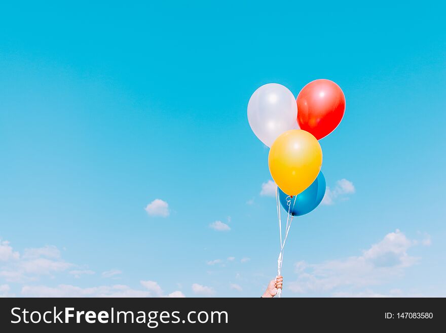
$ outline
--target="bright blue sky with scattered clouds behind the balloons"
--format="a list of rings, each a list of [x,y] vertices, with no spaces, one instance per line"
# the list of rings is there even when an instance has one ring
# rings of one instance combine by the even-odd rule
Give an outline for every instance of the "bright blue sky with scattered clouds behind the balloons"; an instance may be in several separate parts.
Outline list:
[[[446,295],[440,2],[2,7],[0,295],[262,295],[279,236],[246,106],[316,78],[347,108],[284,296]]]

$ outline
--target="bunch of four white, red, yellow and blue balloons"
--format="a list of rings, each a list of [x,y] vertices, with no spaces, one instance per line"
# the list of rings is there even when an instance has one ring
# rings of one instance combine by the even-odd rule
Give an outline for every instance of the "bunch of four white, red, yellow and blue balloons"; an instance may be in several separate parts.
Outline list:
[[[344,112],[344,93],[327,79],[310,82],[297,99],[279,84],[264,85],[249,99],[249,126],[270,147],[270,173],[290,215],[307,214],[322,201],[325,178],[318,140],[338,127]]]

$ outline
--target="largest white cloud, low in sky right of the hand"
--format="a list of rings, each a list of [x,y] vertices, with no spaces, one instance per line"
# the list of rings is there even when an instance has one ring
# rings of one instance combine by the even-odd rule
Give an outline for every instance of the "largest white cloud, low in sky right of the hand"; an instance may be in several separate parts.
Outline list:
[[[403,276],[407,267],[419,261],[419,258],[407,254],[407,250],[414,245],[415,241],[407,239],[397,229],[370,246],[361,256],[320,264],[296,263],[298,279],[291,282],[289,288],[295,293],[332,292],[341,295],[339,293],[350,293],[345,288],[355,289],[386,283]]]

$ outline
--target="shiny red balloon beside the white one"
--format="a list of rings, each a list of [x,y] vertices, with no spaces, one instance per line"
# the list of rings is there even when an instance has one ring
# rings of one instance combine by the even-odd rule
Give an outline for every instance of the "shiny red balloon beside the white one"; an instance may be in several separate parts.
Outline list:
[[[337,128],[345,112],[345,96],[333,81],[319,79],[298,95],[298,122],[302,130],[322,139]]]

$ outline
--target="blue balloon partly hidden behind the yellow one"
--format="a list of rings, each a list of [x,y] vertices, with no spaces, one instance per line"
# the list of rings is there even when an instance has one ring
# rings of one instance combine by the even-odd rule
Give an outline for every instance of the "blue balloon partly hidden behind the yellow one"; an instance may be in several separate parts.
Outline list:
[[[288,197],[288,194],[285,194],[285,192],[279,188],[280,204],[287,213],[289,210],[289,214],[292,216],[308,214],[321,203],[325,195],[325,187],[325,177],[321,171],[319,172],[319,175],[317,175],[315,181],[304,192],[299,193],[297,197]],[[287,197],[290,203],[289,206]]]

